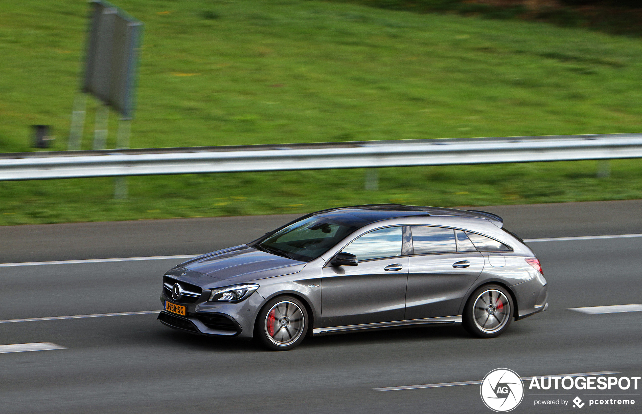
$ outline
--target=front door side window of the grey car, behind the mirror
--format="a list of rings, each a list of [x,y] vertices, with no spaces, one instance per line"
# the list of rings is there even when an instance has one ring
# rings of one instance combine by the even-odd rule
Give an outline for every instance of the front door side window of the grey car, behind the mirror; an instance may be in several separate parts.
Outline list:
[[[356,255],[357,260],[401,256],[403,228],[386,227],[365,233],[345,246],[343,251]]]

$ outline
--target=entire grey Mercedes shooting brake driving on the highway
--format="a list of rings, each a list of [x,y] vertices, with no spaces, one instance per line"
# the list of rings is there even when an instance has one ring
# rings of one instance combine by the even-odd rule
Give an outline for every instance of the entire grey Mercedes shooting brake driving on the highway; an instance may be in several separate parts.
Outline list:
[[[369,204],[173,267],[159,320],[289,350],[308,335],[459,323],[494,338],[546,311],[547,298],[539,260],[497,215]]]

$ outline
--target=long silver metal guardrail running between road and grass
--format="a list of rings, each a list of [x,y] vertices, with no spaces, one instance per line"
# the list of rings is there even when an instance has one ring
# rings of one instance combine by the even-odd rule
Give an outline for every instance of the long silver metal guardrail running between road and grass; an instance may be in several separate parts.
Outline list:
[[[642,134],[0,154],[0,181],[642,158]]]

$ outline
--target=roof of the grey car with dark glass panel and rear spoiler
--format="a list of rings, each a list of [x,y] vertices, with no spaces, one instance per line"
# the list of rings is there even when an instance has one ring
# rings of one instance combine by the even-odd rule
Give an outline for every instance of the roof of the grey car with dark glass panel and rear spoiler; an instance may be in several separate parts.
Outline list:
[[[361,206],[347,206],[330,208],[313,213],[320,217],[350,223],[361,227],[375,221],[395,219],[398,217],[413,217],[426,215],[474,217],[476,219],[490,219],[501,222],[501,217],[492,213],[456,210],[455,208],[404,206],[403,204],[363,204]]]

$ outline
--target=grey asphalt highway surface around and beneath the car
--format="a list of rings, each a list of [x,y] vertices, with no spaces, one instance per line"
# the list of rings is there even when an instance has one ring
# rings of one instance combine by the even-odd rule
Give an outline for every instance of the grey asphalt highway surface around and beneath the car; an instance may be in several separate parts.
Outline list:
[[[522,237],[537,238],[642,233],[641,207],[640,201],[618,201],[480,210],[503,215],[508,228]],[[4,240],[12,240],[3,246],[2,261],[203,253],[254,239],[287,219],[14,226],[0,229]],[[74,241],[74,235],[83,242]],[[36,247],[25,255],[24,246]],[[590,315],[568,308],[642,303],[642,238],[531,246],[549,282],[550,308],[514,322],[495,339],[470,338],[459,327],[402,329],[308,338],[295,350],[268,352],[252,343],[180,334],[160,325],[153,314],[0,323],[0,345],[52,342],[67,347],[0,354],[0,411],[490,413],[478,385],[372,388],[474,381],[500,367],[523,377],[601,371],[641,376],[642,312]],[[160,276],[176,262],[0,267],[0,320],[160,309]],[[526,390],[512,412],[577,410],[572,402],[534,406],[541,397],[529,393],[534,392]],[[575,395],[585,402],[591,398],[577,391],[551,398]],[[638,406],[586,405],[582,411],[639,413],[642,399],[629,398]]]

